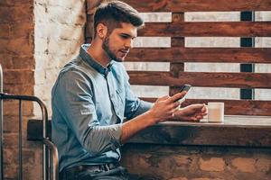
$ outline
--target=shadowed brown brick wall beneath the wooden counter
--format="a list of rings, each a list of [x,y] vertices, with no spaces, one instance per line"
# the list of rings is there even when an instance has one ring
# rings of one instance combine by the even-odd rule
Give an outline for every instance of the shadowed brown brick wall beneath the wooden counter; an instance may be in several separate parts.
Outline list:
[[[155,180],[268,180],[271,150],[129,144],[122,165]]]

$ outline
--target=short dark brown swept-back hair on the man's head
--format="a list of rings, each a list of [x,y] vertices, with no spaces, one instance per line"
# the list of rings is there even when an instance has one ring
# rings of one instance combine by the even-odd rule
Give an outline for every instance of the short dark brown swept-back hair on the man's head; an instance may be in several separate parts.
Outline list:
[[[131,23],[135,27],[144,25],[139,13],[129,4],[121,1],[111,1],[100,4],[94,14],[94,37],[98,23],[104,23],[109,32],[120,27],[120,23]]]

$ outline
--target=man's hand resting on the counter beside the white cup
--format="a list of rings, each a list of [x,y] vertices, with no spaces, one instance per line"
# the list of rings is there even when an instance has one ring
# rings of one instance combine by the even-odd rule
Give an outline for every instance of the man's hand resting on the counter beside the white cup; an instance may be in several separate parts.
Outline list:
[[[203,116],[207,115],[207,107],[205,104],[196,103],[186,106],[174,112],[174,121],[201,121]]]

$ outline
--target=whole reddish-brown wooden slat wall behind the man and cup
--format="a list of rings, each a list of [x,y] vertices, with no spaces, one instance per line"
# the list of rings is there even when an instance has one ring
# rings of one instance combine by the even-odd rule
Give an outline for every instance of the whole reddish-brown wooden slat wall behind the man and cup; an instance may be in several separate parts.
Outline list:
[[[186,48],[185,37],[270,37],[271,22],[184,22],[185,12],[271,11],[270,0],[123,0],[141,13],[171,12],[172,23],[145,23],[138,36],[171,37],[170,48],[135,48],[126,58],[131,62],[170,62],[170,72],[128,71],[132,85],[168,85],[169,94],[185,83],[199,87],[271,89],[271,73],[184,72],[185,62],[271,63],[269,48]],[[88,4],[93,4],[89,0]],[[90,5],[88,5],[89,7]],[[91,40],[88,9],[86,41]],[[154,98],[145,98],[154,101]],[[190,103],[220,101],[226,114],[271,115],[271,101],[189,99]]]

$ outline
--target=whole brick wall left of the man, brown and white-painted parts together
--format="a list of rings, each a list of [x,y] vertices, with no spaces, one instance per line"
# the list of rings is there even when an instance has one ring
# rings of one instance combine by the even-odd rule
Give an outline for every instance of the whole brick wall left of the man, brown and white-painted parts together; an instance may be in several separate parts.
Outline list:
[[[51,115],[51,86],[84,41],[85,1],[0,1],[0,63],[4,91],[42,98]],[[4,103],[5,179],[18,179],[18,103]],[[23,103],[23,179],[42,179],[42,144],[26,140],[37,104]]]

